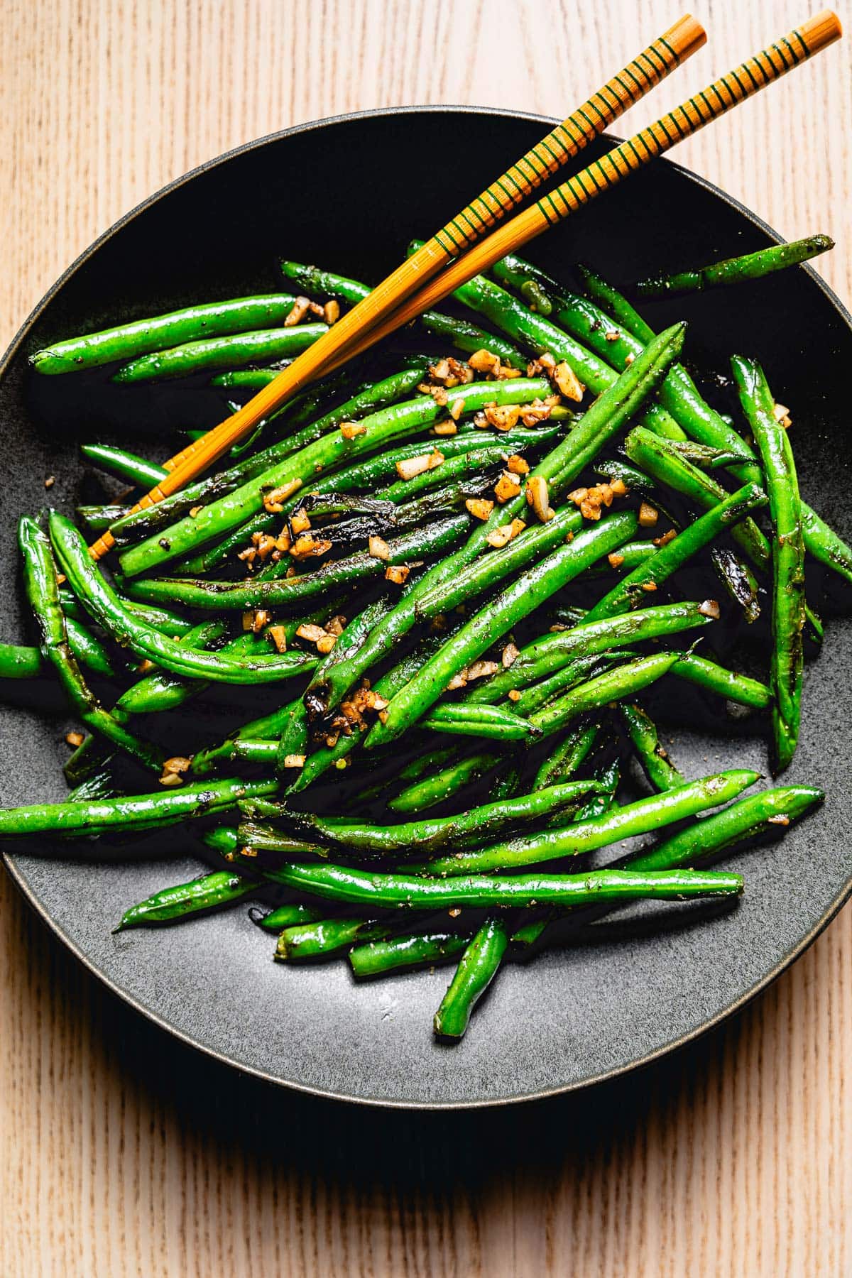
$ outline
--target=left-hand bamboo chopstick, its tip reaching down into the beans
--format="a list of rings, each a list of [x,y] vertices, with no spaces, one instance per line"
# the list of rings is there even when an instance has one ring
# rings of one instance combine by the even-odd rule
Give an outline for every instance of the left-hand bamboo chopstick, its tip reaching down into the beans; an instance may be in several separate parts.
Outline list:
[[[704,45],[706,32],[691,14],[685,14],[668,31],[637,54],[612,79],[542,138],[530,151],[497,178],[456,217],[452,217],[416,253],[406,258],[369,296],[353,307],[308,350],[263,387],[238,413],[208,431],[181,452],[164,463],[169,474],[133,507],[141,510],[176,492],[222,455],[241,436],[275,412],[301,386],[316,380],[363,335],[390,316],[424,281],[475,244],[507,212],[547,181],[563,164],[574,158],[623,111],[637,102],[680,64]],[[89,547],[100,558],[115,544],[109,530]]]

